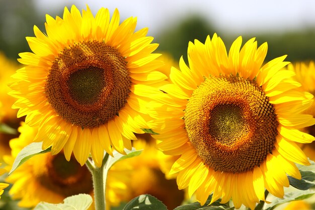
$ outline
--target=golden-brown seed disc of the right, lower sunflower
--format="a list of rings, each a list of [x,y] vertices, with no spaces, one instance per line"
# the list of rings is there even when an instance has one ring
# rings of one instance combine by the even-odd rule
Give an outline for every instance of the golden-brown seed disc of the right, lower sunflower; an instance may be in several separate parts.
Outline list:
[[[198,156],[215,171],[246,172],[274,149],[278,121],[255,81],[208,78],[192,94],[185,127]]]

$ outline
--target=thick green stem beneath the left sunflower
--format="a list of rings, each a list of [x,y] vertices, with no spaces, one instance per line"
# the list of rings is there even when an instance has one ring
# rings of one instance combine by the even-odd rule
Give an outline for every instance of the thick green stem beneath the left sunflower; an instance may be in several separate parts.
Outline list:
[[[94,197],[95,197],[95,209],[96,210],[105,210],[105,181],[104,180],[104,167],[108,159],[108,153],[105,154],[105,157],[102,162],[101,168],[97,167],[92,159],[88,159],[86,165],[92,173],[93,177],[93,187],[94,187]],[[107,174],[106,174],[107,175]]]

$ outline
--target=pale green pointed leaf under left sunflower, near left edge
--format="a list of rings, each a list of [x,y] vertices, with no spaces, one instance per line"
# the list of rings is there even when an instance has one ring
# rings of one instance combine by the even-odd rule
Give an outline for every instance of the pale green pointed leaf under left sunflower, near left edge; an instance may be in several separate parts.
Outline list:
[[[15,159],[9,175],[31,157],[50,152],[51,147],[46,150],[42,150],[42,144],[42,142],[34,142],[23,148]]]

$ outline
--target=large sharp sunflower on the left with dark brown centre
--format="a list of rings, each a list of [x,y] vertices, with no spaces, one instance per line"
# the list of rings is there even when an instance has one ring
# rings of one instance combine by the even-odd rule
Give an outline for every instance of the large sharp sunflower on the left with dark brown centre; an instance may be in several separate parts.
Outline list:
[[[18,116],[39,127],[34,141],[43,149],[63,149],[67,160],[73,151],[81,165],[91,152],[99,167],[104,151],[131,149],[134,133],[146,127],[146,85],[167,78],[154,70],[163,65],[152,53],[158,44],[135,27],[133,17],[119,24],[117,9],[110,20],[108,9],[94,17],[75,6],[63,19],[47,15],[46,34],[34,27],[35,37],[27,37],[33,53],[19,54],[26,66],[14,75],[11,95]]]

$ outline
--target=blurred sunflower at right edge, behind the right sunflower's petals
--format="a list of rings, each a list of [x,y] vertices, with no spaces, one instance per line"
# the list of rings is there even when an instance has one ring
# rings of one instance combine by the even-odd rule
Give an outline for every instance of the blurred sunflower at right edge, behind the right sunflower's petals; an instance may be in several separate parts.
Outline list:
[[[305,62],[296,62],[294,64],[289,64],[287,68],[290,71],[294,71],[296,76],[296,80],[301,83],[300,89],[302,91],[310,92],[311,94],[315,94],[315,64],[314,61],[310,61],[309,63]],[[312,116],[315,116],[315,103],[312,103],[312,105],[306,109],[303,113],[305,114],[311,114]],[[303,131],[307,132],[308,134],[315,135],[315,126],[308,126],[303,128]],[[315,161],[315,144],[314,142],[310,144],[301,144],[301,149],[305,153],[307,157],[309,157],[311,160]]]

